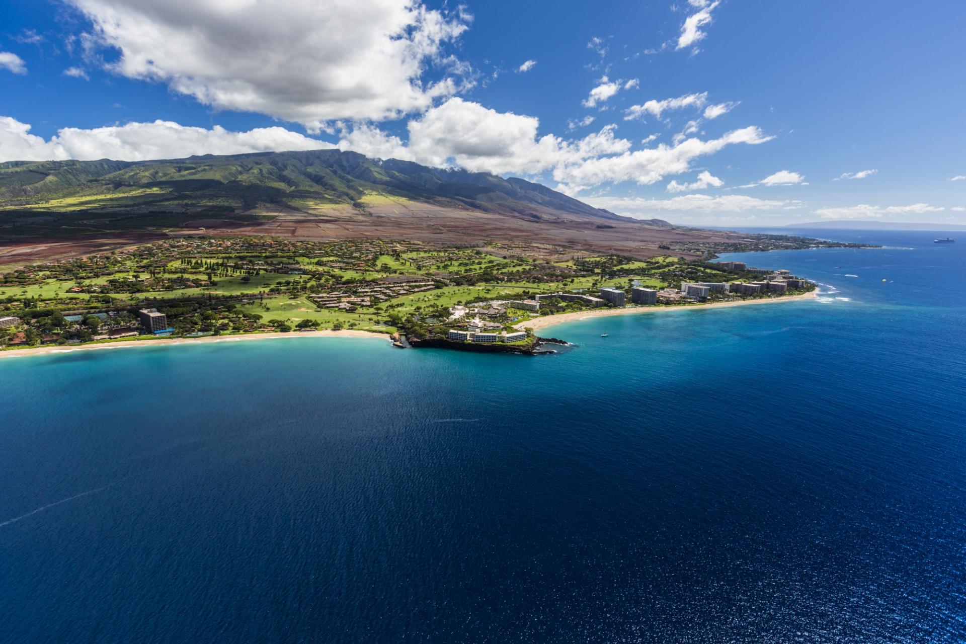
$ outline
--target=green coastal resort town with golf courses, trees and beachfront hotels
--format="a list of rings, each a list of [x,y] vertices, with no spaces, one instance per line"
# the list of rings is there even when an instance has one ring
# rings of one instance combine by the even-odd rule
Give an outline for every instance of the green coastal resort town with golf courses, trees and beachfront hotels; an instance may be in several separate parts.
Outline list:
[[[6,350],[357,329],[397,346],[529,350],[527,322],[802,294],[787,270],[525,242],[173,238],[0,274]],[[402,344],[405,342],[406,344]]]

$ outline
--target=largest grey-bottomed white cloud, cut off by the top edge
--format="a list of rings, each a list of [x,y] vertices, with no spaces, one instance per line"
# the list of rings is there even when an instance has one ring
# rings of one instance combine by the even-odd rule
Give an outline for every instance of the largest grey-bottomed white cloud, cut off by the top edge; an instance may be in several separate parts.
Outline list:
[[[419,0],[68,1],[93,23],[89,39],[120,51],[108,69],[310,131],[422,112],[469,73],[443,49],[472,16]],[[429,82],[433,65],[452,73]]]

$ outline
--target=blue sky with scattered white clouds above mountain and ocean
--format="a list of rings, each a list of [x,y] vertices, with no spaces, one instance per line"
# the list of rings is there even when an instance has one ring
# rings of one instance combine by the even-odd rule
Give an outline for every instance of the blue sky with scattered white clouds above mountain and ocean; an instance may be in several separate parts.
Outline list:
[[[960,0],[0,0],[0,161],[339,148],[681,224],[966,224],[964,24]]]

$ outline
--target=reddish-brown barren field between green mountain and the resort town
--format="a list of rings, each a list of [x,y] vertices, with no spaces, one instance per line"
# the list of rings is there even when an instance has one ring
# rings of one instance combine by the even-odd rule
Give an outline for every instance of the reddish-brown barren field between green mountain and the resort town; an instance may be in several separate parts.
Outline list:
[[[575,251],[616,253],[645,259],[678,255],[694,259],[701,251],[691,246],[734,241],[735,233],[653,226],[630,219],[601,219],[582,214],[535,210],[520,213],[469,210],[399,201],[357,210],[338,206],[320,210],[252,210],[265,221],[204,217],[162,231],[84,233],[76,239],[0,241],[0,265],[20,265],[79,257],[148,243],[166,237],[262,236],[327,239],[411,239],[453,245],[494,241],[526,241],[572,248]],[[673,250],[660,244],[673,244]]]

